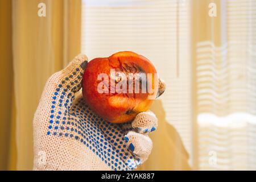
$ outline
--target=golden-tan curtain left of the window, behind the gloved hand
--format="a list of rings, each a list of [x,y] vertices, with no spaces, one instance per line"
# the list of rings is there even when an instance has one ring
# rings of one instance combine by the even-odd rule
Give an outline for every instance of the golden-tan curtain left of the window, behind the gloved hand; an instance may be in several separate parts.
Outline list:
[[[46,17],[38,4],[46,4]],[[81,1],[13,1],[17,169],[31,170],[32,119],[44,84],[80,53]]]

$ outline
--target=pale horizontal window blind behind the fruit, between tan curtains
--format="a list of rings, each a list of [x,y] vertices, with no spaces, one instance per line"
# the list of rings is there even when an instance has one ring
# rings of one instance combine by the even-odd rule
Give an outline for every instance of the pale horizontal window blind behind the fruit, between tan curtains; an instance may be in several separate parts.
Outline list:
[[[85,0],[81,49],[89,59],[118,51],[134,51],[150,59],[167,84],[160,98],[166,120],[175,126],[191,154],[189,2]]]

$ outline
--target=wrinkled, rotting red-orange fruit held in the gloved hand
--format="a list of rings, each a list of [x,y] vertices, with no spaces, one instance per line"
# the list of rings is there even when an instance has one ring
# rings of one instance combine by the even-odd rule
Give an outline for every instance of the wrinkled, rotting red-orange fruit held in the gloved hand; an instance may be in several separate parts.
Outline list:
[[[150,60],[130,51],[89,61],[82,77],[86,104],[112,123],[132,121],[150,109],[165,86]]]

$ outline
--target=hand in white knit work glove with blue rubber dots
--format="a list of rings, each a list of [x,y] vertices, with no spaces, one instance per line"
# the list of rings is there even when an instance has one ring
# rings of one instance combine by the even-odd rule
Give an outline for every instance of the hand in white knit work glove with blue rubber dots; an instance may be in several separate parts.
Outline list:
[[[79,55],[46,83],[33,121],[35,170],[130,170],[151,152],[155,115],[124,124],[98,117],[79,92],[86,64]]]

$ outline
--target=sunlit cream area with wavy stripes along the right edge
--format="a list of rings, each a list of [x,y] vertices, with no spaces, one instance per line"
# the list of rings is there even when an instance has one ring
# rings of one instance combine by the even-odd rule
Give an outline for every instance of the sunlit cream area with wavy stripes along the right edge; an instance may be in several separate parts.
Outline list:
[[[255,170],[256,1],[220,7],[220,29],[208,26],[221,43],[208,36],[196,48],[199,166]]]

